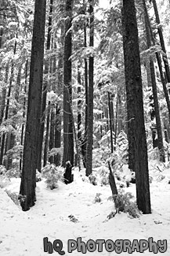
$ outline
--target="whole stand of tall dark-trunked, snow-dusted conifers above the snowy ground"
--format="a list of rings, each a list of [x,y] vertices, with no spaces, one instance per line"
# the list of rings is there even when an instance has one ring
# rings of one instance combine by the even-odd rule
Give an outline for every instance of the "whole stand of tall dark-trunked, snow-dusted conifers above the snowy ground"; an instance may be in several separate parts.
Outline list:
[[[95,0],[4,0],[0,14],[0,163],[22,169],[23,210],[34,206],[36,169],[48,161],[80,169],[82,160],[89,176],[92,149],[110,132],[113,153],[124,130],[138,206],[150,213],[147,146],[165,161],[170,135],[170,73],[156,1],[101,9]]]

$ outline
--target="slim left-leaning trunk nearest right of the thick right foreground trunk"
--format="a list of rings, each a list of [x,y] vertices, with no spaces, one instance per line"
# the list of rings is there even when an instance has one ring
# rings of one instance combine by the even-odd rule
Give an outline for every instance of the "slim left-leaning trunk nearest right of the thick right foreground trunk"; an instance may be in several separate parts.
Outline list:
[[[144,17],[145,17],[145,26],[146,26],[146,41],[147,41],[147,47],[149,49],[151,46],[150,30],[148,29],[149,18],[147,15],[146,2],[144,0],[143,0],[143,7],[144,7]],[[165,150],[164,150],[163,136],[162,136],[162,130],[161,130],[161,117],[160,117],[159,102],[157,97],[157,82],[156,82],[155,71],[154,71],[154,61],[151,58],[150,58],[150,76],[152,81],[154,109],[155,109],[155,117],[156,117],[156,124],[157,124],[157,143],[158,143],[157,147],[160,150],[160,161],[165,161]]]

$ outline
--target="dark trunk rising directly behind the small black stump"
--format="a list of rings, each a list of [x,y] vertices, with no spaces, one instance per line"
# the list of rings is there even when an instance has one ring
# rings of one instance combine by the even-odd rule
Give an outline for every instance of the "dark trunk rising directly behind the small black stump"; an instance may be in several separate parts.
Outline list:
[[[71,85],[71,52],[72,52],[72,20],[73,1],[65,2],[65,41],[64,41],[64,58],[63,58],[63,162],[70,161],[74,165],[74,132],[73,119],[71,116],[72,103],[72,85]]]

